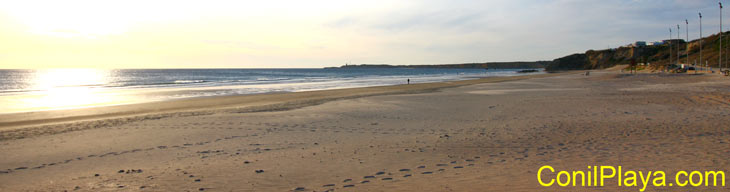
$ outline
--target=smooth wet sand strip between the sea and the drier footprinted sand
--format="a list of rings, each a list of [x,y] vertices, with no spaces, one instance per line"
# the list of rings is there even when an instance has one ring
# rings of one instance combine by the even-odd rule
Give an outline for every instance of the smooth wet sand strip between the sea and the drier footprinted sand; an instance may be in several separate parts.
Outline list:
[[[0,114],[0,134],[15,128],[48,125],[72,121],[110,118],[149,118],[155,116],[178,116],[179,113],[258,112],[301,108],[340,99],[352,99],[377,95],[409,94],[435,91],[443,88],[465,85],[544,78],[580,73],[558,72],[507,77],[485,77],[470,80],[445,81],[420,84],[401,84],[359,88],[329,89],[303,92],[263,93],[247,95],[205,96],[195,98],[152,101],[145,103],[86,107]],[[1,136],[0,140],[8,139]],[[12,139],[12,138],[11,138]]]

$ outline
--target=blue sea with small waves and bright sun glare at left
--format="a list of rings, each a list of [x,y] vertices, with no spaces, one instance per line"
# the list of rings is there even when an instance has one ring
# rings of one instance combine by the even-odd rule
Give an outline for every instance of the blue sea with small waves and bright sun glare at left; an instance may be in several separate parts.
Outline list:
[[[528,75],[518,69],[0,70],[0,113]],[[535,73],[531,73],[535,74]]]

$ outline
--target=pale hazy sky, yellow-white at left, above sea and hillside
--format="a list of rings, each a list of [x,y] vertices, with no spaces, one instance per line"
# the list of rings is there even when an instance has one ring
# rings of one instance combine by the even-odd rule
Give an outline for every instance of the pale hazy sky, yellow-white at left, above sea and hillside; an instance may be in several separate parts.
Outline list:
[[[3,1],[0,68],[552,60],[667,39],[677,24],[684,38],[685,18],[696,39],[698,11],[717,33],[717,1],[700,0]]]

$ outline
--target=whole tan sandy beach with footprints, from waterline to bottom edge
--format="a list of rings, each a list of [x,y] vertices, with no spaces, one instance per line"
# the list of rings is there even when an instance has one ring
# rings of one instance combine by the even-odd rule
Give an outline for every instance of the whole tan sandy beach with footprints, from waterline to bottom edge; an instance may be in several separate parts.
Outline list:
[[[593,71],[5,115],[0,191],[639,191],[536,172],[730,171],[729,87]]]

